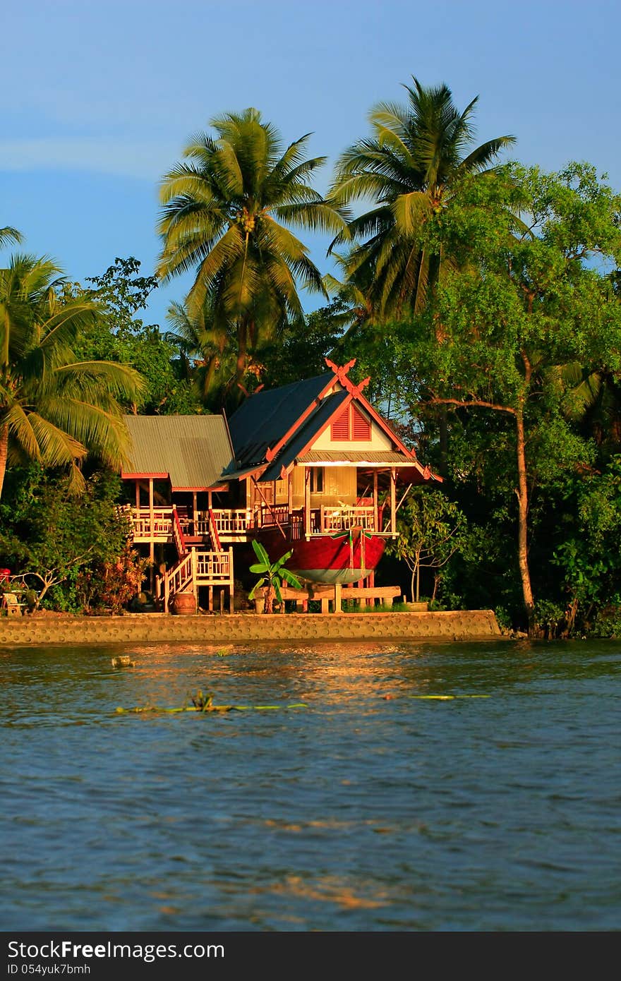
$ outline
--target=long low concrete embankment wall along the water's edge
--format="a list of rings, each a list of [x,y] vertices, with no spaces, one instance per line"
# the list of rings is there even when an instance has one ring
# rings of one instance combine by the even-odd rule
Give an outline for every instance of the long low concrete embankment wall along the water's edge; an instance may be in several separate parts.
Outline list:
[[[247,644],[268,641],[491,641],[493,610],[431,613],[286,613],[0,618],[0,646],[51,644]]]

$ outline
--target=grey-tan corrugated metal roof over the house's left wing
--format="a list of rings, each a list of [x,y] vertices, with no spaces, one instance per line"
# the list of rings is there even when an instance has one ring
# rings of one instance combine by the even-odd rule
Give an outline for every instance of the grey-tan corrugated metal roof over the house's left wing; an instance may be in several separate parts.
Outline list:
[[[125,421],[132,448],[123,477],[166,473],[173,490],[222,483],[232,458],[223,416],[126,416]]]

